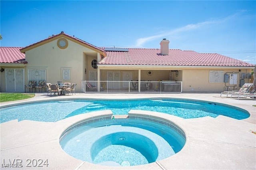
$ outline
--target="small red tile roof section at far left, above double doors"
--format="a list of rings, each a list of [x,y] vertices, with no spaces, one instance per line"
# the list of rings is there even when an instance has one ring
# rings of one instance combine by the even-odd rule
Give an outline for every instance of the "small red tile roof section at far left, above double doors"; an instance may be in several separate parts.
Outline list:
[[[25,54],[20,52],[22,47],[0,47],[0,63],[23,63]]]

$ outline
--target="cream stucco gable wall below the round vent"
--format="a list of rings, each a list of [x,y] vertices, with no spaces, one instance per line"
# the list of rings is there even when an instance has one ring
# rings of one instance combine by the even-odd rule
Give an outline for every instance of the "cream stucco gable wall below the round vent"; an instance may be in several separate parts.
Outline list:
[[[57,41],[26,51],[28,64],[25,83],[28,83],[28,69],[46,69],[46,83],[57,83],[57,81],[77,83],[76,91],[81,91],[81,81],[85,78],[84,69],[88,65],[86,58],[90,57],[85,53],[96,52],[70,40],[66,49],[60,49]],[[63,80],[62,69],[70,69],[70,80]]]

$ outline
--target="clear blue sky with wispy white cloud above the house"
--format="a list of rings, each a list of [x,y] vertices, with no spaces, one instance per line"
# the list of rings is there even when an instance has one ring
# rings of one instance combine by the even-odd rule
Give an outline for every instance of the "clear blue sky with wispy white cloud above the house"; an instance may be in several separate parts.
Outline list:
[[[0,1],[2,47],[64,31],[98,47],[220,53],[256,64],[256,1]]]

